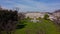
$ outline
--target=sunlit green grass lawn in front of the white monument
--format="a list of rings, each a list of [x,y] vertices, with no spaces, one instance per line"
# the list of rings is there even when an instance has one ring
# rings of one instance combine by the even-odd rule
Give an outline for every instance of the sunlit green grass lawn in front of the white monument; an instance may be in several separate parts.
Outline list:
[[[40,23],[28,22],[25,28],[17,29],[15,34],[60,34],[53,22],[43,20]]]

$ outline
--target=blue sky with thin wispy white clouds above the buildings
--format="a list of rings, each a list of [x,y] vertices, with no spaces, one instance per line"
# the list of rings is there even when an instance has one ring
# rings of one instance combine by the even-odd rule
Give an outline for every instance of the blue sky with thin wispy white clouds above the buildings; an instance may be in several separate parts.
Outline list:
[[[53,12],[60,9],[60,0],[0,0],[6,9],[19,8],[20,11]]]

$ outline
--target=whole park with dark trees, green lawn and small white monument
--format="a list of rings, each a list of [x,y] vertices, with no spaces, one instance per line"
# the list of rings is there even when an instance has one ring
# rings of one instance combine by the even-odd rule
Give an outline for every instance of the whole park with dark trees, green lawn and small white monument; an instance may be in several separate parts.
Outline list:
[[[60,21],[48,18],[48,14],[33,19],[18,16],[16,10],[0,10],[0,34],[60,34]]]

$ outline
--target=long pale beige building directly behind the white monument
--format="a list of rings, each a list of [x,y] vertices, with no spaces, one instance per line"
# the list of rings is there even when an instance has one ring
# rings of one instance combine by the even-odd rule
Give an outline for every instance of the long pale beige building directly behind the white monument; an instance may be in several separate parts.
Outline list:
[[[43,12],[32,12],[32,13],[26,13],[25,16],[30,18],[43,18],[46,13]]]

